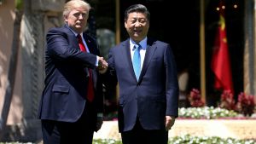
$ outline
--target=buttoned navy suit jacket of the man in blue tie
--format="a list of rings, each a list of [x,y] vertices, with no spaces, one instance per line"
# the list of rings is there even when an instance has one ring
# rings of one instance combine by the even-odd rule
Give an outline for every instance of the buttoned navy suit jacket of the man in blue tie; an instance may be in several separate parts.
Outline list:
[[[109,84],[119,83],[119,131],[131,130],[137,117],[144,129],[165,129],[166,115],[177,117],[177,68],[167,43],[148,38],[139,80],[131,61],[129,38],[110,49]]]

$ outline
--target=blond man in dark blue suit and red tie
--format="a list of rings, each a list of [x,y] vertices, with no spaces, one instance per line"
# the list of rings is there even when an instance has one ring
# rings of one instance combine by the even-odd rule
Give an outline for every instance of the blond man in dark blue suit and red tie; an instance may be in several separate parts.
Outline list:
[[[102,126],[102,78],[97,69],[108,63],[97,56],[96,40],[84,33],[89,11],[89,3],[67,2],[66,25],[46,35],[46,78],[38,109],[44,144],[90,144]]]

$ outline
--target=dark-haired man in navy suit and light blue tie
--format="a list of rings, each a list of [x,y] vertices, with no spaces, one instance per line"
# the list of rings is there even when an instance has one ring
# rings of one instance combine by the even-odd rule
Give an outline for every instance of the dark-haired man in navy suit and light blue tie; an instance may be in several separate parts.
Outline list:
[[[108,83],[119,83],[119,132],[124,144],[166,144],[177,118],[177,68],[168,43],[147,37],[142,4],[125,10],[130,38],[110,49]]]

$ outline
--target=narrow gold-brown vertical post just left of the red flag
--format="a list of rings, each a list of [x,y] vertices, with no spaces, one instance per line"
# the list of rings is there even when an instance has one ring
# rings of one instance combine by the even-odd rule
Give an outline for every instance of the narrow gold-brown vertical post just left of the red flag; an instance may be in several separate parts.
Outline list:
[[[201,99],[206,101],[206,53],[205,53],[205,0],[200,1],[200,76]]]

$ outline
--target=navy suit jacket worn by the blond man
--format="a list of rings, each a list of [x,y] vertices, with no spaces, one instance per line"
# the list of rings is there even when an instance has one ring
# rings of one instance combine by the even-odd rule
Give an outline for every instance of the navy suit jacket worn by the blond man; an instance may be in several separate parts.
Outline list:
[[[49,30],[46,35],[44,91],[39,104],[38,118],[63,122],[77,121],[86,105],[88,67],[92,69],[95,99],[93,119],[102,112],[102,81],[96,72],[96,55],[99,49],[96,40],[83,33],[90,49],[84,53],[74,33],[62,26]]]

